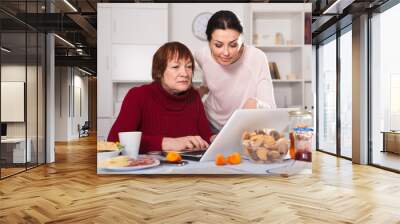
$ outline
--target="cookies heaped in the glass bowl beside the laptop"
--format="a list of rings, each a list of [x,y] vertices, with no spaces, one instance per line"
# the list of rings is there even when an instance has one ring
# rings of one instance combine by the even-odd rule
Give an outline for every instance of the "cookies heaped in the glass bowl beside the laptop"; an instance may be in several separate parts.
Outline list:
[[[274,129],[245,131],[242,145],[244,154],[259,163],[281,161],[289,150],[289,141]]]

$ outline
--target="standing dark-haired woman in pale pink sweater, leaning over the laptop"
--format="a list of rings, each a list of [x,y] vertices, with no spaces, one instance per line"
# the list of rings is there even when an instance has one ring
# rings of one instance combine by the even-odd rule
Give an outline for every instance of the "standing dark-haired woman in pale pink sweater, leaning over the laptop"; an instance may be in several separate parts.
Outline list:
[[[217,133],[238,108],[276,108],[265,54],[243,44],[243,27],[231,11],[218,11],[208,21],[208,46],[196,52],[203,71],[201,96]]]

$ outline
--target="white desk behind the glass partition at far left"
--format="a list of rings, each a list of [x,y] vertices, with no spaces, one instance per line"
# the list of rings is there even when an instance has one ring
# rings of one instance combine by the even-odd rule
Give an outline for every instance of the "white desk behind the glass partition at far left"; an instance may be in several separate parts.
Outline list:
[[[25,158],[27,162],[30,162],[32,159],[31,154],[31,144],[32,141],[30,138],[26,139],[27,148],[25,154],[25,138],[6,138],[1,139],[1,144],[4,146],[13,145],[13,163],[25,163]]]

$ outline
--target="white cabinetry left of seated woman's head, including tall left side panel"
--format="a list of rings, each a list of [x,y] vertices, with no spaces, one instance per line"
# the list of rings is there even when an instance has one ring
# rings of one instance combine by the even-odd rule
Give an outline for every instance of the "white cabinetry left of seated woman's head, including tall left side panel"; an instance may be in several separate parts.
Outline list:
[[[168,41],[168,4],[97,7],[98,117],[113,118],[113,83],[152,81],[153,54]]]

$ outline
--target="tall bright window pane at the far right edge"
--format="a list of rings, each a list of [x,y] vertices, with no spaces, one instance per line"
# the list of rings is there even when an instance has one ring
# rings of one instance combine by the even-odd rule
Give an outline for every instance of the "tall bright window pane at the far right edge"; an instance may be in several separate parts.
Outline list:
[[[371,157],[373,164],[395,170],[400,170],[400,133],[391,131],[400,130],[399,21],[400,4],[371,19]]]

